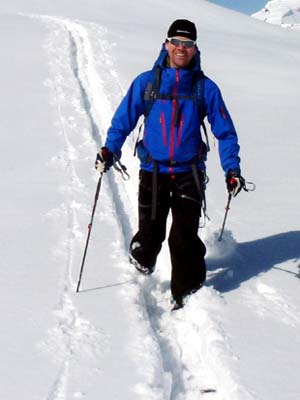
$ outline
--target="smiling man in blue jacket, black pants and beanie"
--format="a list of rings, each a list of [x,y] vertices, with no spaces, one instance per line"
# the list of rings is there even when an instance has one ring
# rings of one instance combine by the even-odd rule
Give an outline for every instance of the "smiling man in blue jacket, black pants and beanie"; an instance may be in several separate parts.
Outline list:
[[[153,273],[171,210],[168,243],[175,309],[206,278],[206,248],[198,236],[207,153],[200,127],[206,116],[219,141],[229,192],[236,196],[244,186],[236,131],[219,88],[201,71],[196,39],[194,23],[176,20],[171,24],[154,68],[133,81],[96,160],[96,168],[107,171],[114,155],[121,156],[121,147],[139,117],[145,115],[143,138],[137,143],[139,226],[129,259],[141,273]]]

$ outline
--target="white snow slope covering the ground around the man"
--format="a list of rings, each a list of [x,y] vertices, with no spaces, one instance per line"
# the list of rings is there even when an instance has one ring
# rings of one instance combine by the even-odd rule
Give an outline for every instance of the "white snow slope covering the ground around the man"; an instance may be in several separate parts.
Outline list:
[[[275,2],[272,2],[275,3]],[[283,3],[283,2],[282,2]],[[0,5],[1,331],[6,400],[296,400],[300,349],[299,32],[207,1]],[[160,10],[160,12],[157,12]],[[151,277],[128,264],[138,163],[102,181],[95,154],[167,27],[194,20],[255,192],[232,201],[211,138],[205,287],[170,311],[165,245]]]

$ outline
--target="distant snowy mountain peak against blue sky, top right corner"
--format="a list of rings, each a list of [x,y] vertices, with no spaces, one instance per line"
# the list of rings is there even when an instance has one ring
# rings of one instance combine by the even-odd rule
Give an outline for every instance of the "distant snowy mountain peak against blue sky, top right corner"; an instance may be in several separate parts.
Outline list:
[[[281,25],[285,28],[300,29],[300,1],[269,1],[262,10],[252,16],[270,24]]]

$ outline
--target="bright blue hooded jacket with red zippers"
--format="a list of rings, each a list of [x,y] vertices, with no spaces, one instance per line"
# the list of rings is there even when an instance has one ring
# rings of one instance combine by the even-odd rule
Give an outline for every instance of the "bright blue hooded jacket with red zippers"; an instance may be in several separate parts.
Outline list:
[[[166,57],[167,51],[163,45],[155,63],[162,68],[159,91],[178,96],[178,100],[177,104],[174,99],[157,99],[153,103],[144,125],[141,168],[152,171],[155,160],[159,172],[179,173],[191,170],[190,162],[196,159],[198,168],[204,170],[206,145],[201,135],[199,110],[191,98],[194,74],[200,70],[200,53],[197,52],[193,67],[189,69],[166,67]],[[147,83],[152,79],[152,71],[135,78],[112,119],[105,146],[119,157],[126,137],[146,112],[144,93]],[[204,79],[204,110],[219,142],[222,168],[225,174],[229,169],[240,172],[239,145],[233,122],[218,86],[211,79]],[[145,157],[145,154],[150,157]]]

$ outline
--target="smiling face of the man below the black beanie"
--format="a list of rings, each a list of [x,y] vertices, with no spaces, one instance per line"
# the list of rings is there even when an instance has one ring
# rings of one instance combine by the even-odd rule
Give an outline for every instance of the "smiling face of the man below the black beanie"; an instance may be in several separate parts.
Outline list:
[[[182,42],[188,41],[190,39],[183,37],[183,36],[175,36],[172,39],[178,39]],[[193,45],[191,47],[184,46],[183,43],[179,45],[175,45],[171,43],[171,41],[166,42],[166,49],[169,54],[170,59],[170,67],[171,68],[186,68],[188,67],[189,63],[191,62],[192,58],[196,54],[196,46]]]

